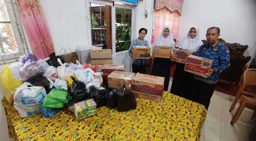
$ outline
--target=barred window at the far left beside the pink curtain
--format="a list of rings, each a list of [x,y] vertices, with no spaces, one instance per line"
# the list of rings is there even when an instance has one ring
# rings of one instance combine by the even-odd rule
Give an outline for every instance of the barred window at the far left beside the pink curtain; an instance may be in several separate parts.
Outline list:
[[[18,61],[27,53],[14,0],[0,0],[0,65]]]

